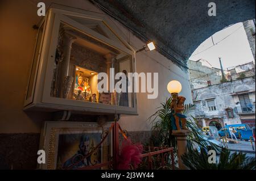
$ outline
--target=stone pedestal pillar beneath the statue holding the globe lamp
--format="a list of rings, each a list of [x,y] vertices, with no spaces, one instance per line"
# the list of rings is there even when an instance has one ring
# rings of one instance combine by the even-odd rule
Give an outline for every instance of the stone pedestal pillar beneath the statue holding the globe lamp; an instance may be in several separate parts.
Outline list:
[[[180,130],[174,130],[172,131],[172,135],[176,137],[177,140],[177,156],[178,156],[178,163],[179,163],[179,169],[180,170],[186,170],[187,167],[183,165],[181,160],[181,155],[184,153],[187,153],[187,136],[191,133],[191,131],[187,129],[180,129]]]

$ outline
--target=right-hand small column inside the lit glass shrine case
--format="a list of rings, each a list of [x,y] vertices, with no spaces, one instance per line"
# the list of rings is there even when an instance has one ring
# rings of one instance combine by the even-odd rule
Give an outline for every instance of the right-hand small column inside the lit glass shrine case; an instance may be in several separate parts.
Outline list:
[[[110,68],[114,68],[114,61],[115,61],[115,57],[116,55],[115,54],[112,54],[112,53],[108,53],[108,54],[105,54],[104,56],[106,58],[106,74],[108,74],[108,90],[110,92],[112,92],[114,90],[114,82],[110,81],[112,80],[112,78],[114,79],[114,72],[110,72]]]

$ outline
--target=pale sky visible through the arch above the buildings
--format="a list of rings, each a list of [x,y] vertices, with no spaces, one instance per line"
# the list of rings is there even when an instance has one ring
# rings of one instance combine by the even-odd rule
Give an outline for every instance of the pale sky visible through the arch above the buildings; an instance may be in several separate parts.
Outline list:
[[[213,47],[211,47],[213,45],[212,37],[214,44],[217,44]],[[218,57],[221,57],[224,70],[254,60],[242,23],[236,23],[224,30],[218,31],[212,37],[201,43],[191,57],[189,57],[189,60],[196,61],[203,58],[212,64],[214,68],[220,68]],[[218,43],[218,41],[220,42]]]

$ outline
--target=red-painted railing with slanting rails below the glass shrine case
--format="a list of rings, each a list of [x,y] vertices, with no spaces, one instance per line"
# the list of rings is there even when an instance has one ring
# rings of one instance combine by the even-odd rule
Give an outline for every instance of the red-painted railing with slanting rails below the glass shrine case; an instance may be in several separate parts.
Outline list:
[[[100,142],[100,144],[98,144],[96,146],[96,148],[94,150],[96,150],[102,144],[102,142],[106,139],[106,137],[108,137],[108,135],[111,131],[113,134],[113,157],[110,158],[110,161],[105,162],[105,163],[98,163],[98,164],[92,165],[92,166],[84,166],[77,170],[93,170],[93,169],[101,169],[102,167],[105,167],[105,168],[107,167],[108,169],[117,169],[117,160],[118,160],[118,155],[119,155],[119,131],[122,134],[123,138],[127,139],[125,132],[121,129],[121,127],[119,126],[117,121],[112,123],[109,130],[106,132],[105,136],[102,137],[102,141]],[[154,150],[154,151],[151,151],[151,150]],[[84,157],[82,157],[81,160],[85,159],[86,157],[89,157],[93,153],[93,151],[90,151],[90,153],[85,155]],[[139,157],[142,159],[147,158],[147,161],[148,161],[147,169],[154,169],[152,159],[155,157],[156,157],[156,159],[158,159],[159,162],[161,162],[162,167],[166,166],[168,164],[168,162],[170,161],[170,159],[169,159],[170,156],[171,156],[172,170],[175,169],[174,149],[173,148],[150,147],[148,151],[146,151],[146,150],[143,150],[143,151],[147,152],[147,153],[141,154],[141,155],[139,155]],[[69,166],[68,170],[72,169],[72,167],[77,165],[77,163],[79,163],[79,162],[73,163],[71,166]],[[133,166],[131,166],[131,168],[133,168]]]

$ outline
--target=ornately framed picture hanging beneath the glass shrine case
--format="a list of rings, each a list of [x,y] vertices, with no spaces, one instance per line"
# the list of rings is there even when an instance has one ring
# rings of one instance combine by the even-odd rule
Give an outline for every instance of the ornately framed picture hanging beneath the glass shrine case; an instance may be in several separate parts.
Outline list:
[[[97,123],[46,121],[43,129],[40,148],[46,151],[46,163],[38,165],[39,169],[108,169],[97,167],[108,162],[112,153],[111,133],[105,132],[108,125],[102,128]]]

